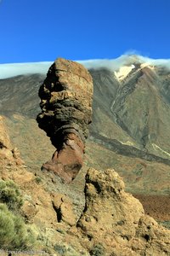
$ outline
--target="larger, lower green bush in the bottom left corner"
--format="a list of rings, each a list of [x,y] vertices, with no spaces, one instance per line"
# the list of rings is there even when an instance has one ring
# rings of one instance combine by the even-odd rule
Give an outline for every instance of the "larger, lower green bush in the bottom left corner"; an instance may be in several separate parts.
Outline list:
[[[0,247],[25,249],[33,242],[31,230],[27,230],[23,219],[10,212],[5,204],[0,204]]]

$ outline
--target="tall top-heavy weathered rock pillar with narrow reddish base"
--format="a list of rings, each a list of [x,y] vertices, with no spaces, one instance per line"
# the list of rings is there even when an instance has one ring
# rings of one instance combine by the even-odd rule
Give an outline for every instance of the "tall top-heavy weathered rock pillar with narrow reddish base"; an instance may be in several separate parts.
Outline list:
[[[81,64],[59,58],[49,68],[39,96],[42,113],[37,122],[57,148],[42,167],[70,183],[82,167],[92,119],[92,78]]]

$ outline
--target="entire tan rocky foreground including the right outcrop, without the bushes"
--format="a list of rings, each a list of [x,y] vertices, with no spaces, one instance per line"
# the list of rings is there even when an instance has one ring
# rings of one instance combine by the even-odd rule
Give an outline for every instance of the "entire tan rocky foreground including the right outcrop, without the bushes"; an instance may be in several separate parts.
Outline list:
[[[12,147],[6,131],[1,122],[0,140]],[[29,172],[20,155],[16,157],[5,145],[0,160],[0,182],[12,180],[20,188],[20,214],[35,237],[31,250],[54,256],[169,255],[170,231],[144,215],[142,205],[124,191],[122,178],[114,170],[88,170],[84,201],[75,186],[59,187],[54,173]]]

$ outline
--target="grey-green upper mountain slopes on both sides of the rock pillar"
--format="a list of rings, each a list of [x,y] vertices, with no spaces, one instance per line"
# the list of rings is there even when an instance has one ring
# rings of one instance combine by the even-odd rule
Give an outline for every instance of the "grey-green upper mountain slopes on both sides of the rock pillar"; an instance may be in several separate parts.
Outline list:
[[[89,69],[94,79],[92,134],[169,159],[170,70],[141,63],[137,56],[133,62],[129,57],[126,65],[118,71]],[[37,91],[44,78],[30,74],[0,79],[1,113],[35,118],[40,111]]]

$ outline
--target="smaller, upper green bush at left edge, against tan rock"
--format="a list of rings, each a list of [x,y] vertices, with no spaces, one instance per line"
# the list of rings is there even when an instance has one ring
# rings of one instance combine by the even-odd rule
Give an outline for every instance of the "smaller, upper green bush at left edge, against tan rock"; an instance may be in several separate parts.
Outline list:
[[[18,210],[23,204],[20,189],[12,181],[0,181],[0,202],[7,204],[9,210]]]

